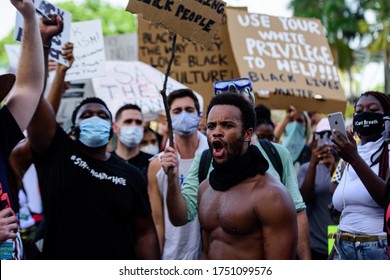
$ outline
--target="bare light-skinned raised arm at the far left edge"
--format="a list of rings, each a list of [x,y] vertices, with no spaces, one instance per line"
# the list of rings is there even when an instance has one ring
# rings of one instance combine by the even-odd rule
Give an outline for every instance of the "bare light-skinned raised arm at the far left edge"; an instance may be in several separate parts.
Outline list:
[[[11,0],[24,19],[22,52],[15,85],[6,105],[23,131],[29,124],[43,91],[42,41],[32,0]]]

